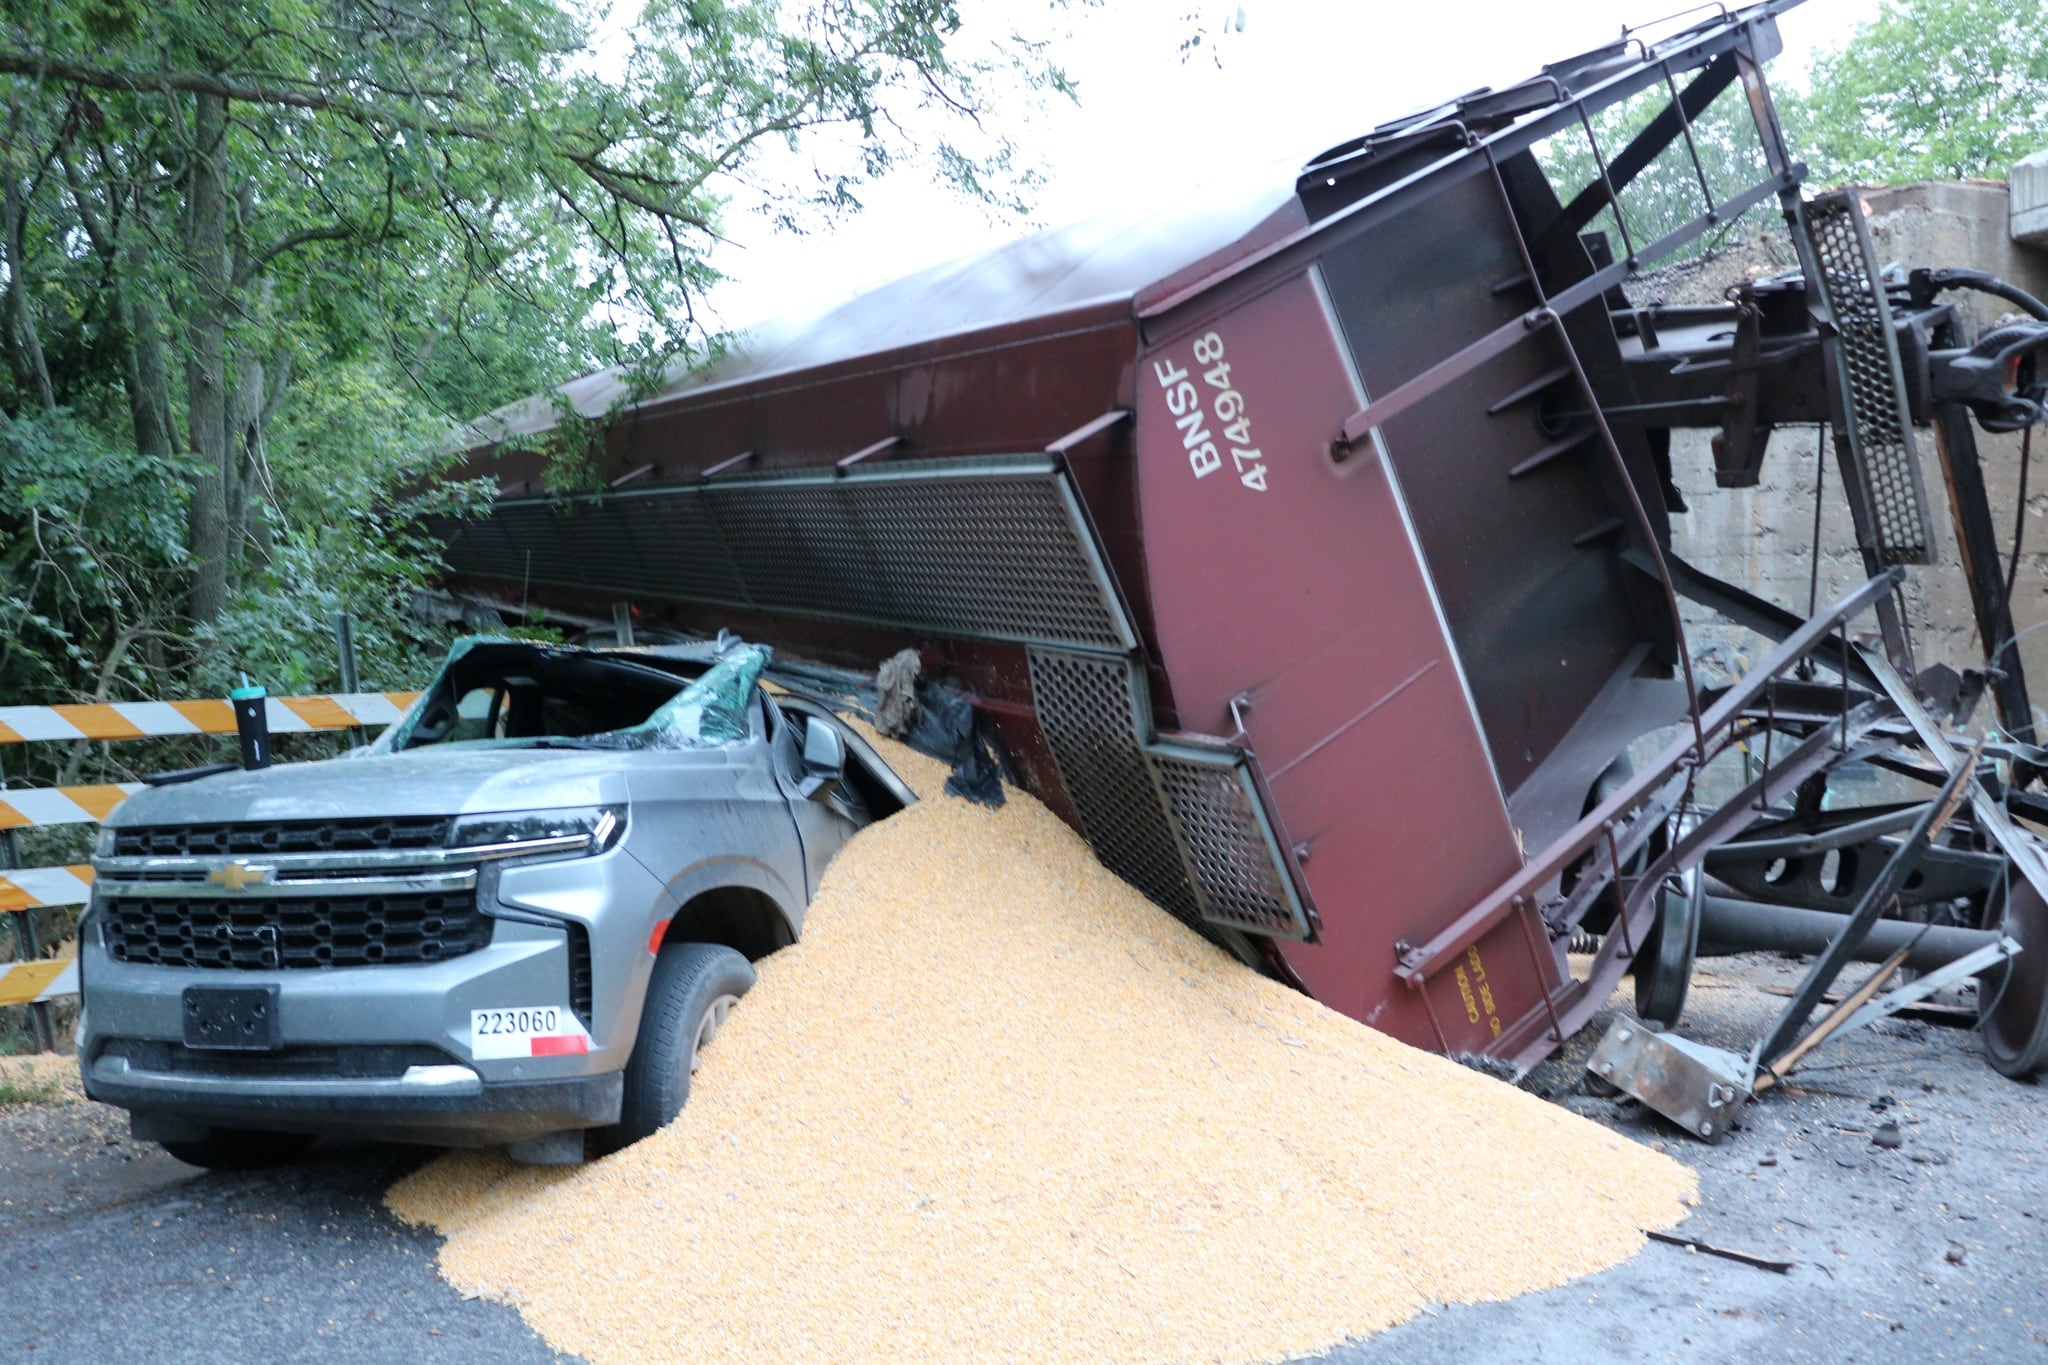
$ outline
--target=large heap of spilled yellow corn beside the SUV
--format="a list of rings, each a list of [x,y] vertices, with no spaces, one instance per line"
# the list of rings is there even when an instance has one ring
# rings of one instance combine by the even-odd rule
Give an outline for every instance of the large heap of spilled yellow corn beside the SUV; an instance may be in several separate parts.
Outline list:
[[[1255,976],[1036,800],[854,839],[682,1117],[391,1189],[592,1361],[1272,1361],[1542,1289],[1692,1173]]]

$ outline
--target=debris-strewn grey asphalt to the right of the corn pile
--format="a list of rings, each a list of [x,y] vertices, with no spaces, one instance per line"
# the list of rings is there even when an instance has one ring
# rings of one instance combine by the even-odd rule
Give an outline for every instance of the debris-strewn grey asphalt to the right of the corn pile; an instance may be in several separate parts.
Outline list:
[[[1679,1031],[1743,1050],[1804,962],[1708,960]],[[1849,968],[1847,982],[1864,968]],[[1749,1105],[1718,1146],[1632,1101],[1581,1091],[1608,1011],[1526,1085],[1700,1173],[1683,1236],[1792,1261],[1784,1275],[1651,1244],[1587,1279],[1442,1308],[1327,1365],[1483,1359],[1759,1361],[1774,1365],[2048,1359],[2048,1091],[2007,1081],[1960,1027],[1890,1021],[1831,1040],[1792,1093]],[[1876,1142],[1896,1126],[1898,1146]],[[1886,1140],[1890,1134],[1886,1134]]]

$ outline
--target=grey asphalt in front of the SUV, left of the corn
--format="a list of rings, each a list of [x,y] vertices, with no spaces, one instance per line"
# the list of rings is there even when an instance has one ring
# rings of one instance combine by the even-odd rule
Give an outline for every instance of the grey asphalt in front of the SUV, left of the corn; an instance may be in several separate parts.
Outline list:
[[[14,1361],[559,1361],[434,1273],[383,1191],[426,1152],[203,1173],[100,1105],[0,1109],[0,1355]]]

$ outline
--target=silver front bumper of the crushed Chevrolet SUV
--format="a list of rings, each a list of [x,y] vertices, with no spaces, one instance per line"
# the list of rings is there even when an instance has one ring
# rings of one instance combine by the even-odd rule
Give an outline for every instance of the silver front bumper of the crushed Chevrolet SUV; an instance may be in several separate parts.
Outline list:
[[[483,948],[438,962],[211,968],[117,960],[100,907],[80,937],[78,1058],[86,1093],[135,1115],[137,1136],[207,1128],[492,1146],[618,1121],[639,1023],[647,913],[659,886],[631,857],[492,868],[502,907]],[[174,900],[164,902],[166,909]],[[532,911],[541,911],[535,915]],[[586,1052],[475,1056],[473,1011],[569,1009],[571,933],[596,990]],[[635,972],[639,978],[635,978]],[[188,1048],[184,990],[276,986],[279,1048]]]

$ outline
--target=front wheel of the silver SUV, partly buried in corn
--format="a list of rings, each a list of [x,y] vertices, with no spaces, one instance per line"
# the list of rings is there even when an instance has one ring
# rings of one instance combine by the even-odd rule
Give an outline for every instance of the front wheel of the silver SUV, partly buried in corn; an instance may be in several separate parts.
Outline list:
[[[655,956],[618,1121],[590,1134],[598,1152],[639,1142],[682,1113],[698,1056],[752,984],[754,966],[719,943],[672,943]]]

